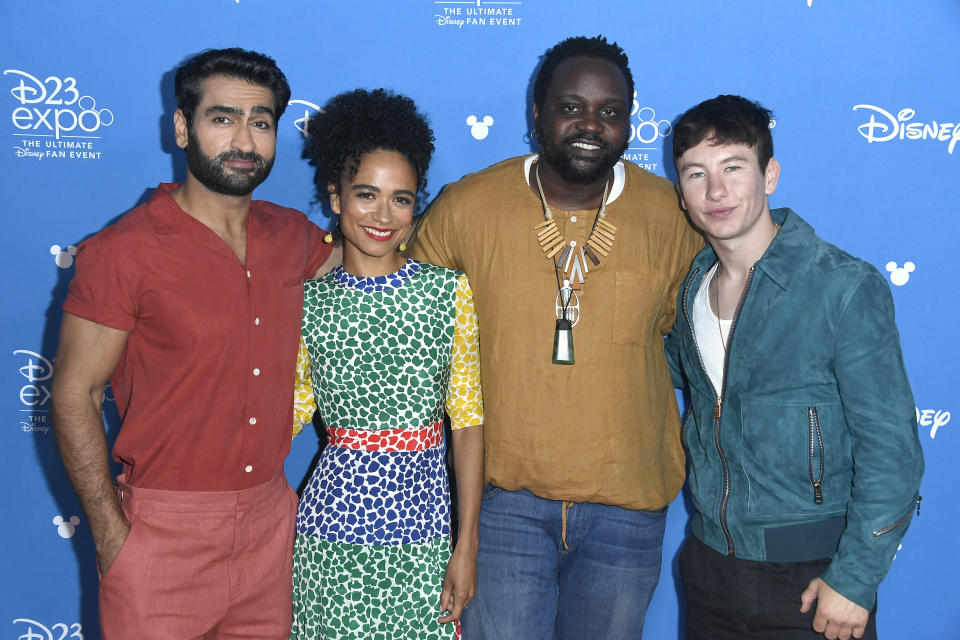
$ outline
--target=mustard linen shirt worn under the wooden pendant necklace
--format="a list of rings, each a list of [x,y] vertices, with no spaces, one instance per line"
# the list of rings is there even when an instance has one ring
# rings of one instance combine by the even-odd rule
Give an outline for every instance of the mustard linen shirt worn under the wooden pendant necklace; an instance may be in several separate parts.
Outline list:
[[[526,162],[525,162],[526,161]],[[663,351],[700,236],[668,180],[623,162],[607,199],[609,257],[589,263],[573,329],[576,364],[551,362],[557,280],[543,221],[511,158],[450,184],[411,257],[467,274],[480,325],[486,481],[543,498],[659,509],[684,479],[680,416]],[[596,210],[553,210],[581,246]]]

